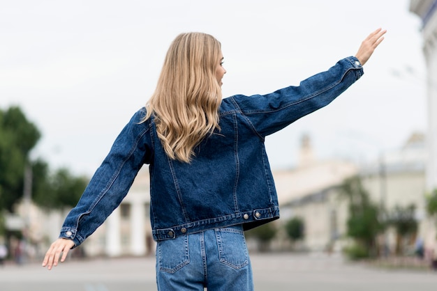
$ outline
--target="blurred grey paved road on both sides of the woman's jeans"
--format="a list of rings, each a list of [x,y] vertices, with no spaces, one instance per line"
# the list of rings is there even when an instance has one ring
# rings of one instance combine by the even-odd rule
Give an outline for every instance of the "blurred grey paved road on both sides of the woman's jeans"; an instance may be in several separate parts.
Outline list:
[[[339,256],[251,255],[256,291],[436,291],[437,272],[376,269]],[[0,267],[1,291],[156,290],[154,258],[64,262],[52,271],[37,263]]]

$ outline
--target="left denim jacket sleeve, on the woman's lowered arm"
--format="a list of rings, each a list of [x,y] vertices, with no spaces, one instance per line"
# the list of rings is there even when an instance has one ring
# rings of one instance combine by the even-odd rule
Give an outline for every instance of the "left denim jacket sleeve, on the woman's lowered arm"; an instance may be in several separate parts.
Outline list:
[[[67,215],[59,237],[75,246],[94,233],[126,196],[150,155],[150,123],[141,123],[145,109],[122,129],[107,157],[91,178],[77,205]]]

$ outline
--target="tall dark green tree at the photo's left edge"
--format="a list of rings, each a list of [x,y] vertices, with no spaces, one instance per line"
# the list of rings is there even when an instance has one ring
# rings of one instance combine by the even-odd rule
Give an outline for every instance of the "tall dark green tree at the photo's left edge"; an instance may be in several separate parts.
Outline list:
[[[0,109],[0,210],[13,212],[22,198],[24,168],[40,132],[19,107]]]

